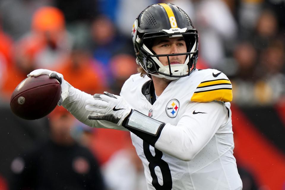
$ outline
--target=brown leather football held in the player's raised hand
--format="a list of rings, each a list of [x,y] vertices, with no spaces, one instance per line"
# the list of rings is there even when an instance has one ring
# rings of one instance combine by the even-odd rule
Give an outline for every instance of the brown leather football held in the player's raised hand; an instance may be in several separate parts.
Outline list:
[[[28,77],[14,90],[10,107],[12,112],[23,119],[34,120],[49,114],[61,96],[61,85],[48,75]]]

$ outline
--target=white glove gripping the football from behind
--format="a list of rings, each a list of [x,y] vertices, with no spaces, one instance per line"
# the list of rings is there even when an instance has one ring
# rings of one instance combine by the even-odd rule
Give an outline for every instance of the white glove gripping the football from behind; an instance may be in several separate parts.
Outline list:
[[[58,101],[58,105],[61,106],[62,102],[67,98],[69,94],[70,84],[64,80],[62,74],[48,69],[36,69],[30,72],[30,74],[28,74],[27,77],[32,77],[32,76],[37,77],[39,75],[48,75],[50,78],[55,78],[58,80],[58,82],[61,85],[61,97],[60,100]]]

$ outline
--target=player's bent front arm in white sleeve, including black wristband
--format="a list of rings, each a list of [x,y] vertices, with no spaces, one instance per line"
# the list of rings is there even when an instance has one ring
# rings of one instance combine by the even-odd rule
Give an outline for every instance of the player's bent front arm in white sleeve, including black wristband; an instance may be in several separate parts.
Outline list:
[[[222,102],[191,103],[176,126],[165,124],[133,110],[123,125],[150,145],[181,160],[189,161],[228,120]],[[207,113],[193,114],[193,110]],[[205,115],[203,115],[205,114]]]

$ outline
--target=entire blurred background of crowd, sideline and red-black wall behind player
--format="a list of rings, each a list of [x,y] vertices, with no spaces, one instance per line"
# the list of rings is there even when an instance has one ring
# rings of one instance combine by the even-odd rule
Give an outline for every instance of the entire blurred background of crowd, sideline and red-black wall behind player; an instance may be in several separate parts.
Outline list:
[[[9,100],[38,68],[90,94],[119,94],[137,72],[132,24],[164,2],[198,29],[197,68],[219,69],[232,82],[243,190],[285,189],[284,0],[0,0],[0,190],[146,189],[128,132],[92,129],[60,107],[23,120]]]

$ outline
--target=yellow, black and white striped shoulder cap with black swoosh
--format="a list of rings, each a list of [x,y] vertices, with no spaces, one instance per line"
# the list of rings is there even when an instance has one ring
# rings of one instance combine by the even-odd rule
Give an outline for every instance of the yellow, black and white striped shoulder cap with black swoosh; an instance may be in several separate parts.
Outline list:
[[[193,102],[232,101],[232,84],[228,77],[215,69],[204,77],[191,97]]]

